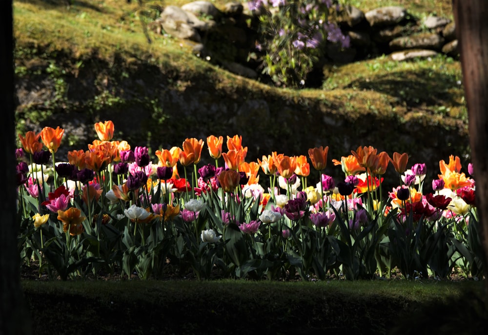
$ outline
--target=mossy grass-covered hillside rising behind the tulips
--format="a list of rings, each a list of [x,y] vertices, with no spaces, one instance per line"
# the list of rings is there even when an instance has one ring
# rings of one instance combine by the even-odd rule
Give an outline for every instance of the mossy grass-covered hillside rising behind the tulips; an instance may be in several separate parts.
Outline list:
[[[165,3],[133,2],[14,1],[18,131],[65,128],[61,154],[84,149],[93,124],[113,120],[117,139],[153,152],[187,137],[240,134],[248,160],[316,146],[340,159],[365,145],[406,151],[431,174],[449,154],[469,160],[461,69],[452,58],[330,64],[320,88],[276,88],[205,62],[169,36],[148,31],[148,43],[141,21]],[[450,1],[350,2],[452,18]]]

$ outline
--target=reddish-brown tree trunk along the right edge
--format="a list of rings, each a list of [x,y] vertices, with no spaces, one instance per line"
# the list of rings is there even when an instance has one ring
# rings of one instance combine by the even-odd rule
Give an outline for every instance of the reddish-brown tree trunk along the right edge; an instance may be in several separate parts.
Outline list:
[[[463,84],[469,115],[469,144],[476,180],[476,207],[488,272],[488,1],[453,0]],[[488,280],[485,280],[488,300]],[[488,301],[487,301],[488,303]]]

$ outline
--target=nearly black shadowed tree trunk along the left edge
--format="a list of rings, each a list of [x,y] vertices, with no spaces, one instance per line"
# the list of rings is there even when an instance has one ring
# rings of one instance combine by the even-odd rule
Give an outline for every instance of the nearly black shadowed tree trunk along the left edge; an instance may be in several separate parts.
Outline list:
[[[30,334],[20,288],[19,230],[16,217],[15,88],[12,0],[0,1],[0,334]]]

